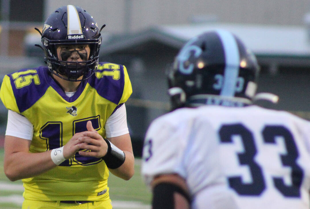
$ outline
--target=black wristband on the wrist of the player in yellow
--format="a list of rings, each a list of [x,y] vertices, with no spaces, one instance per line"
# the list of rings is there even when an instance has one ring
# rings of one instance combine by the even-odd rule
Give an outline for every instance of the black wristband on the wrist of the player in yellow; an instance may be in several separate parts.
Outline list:
[[[120,167],[125,162],[125,153],[112,144],[108,139],[104,139],[108,144],[108,151],[102,157],[108,168],[115,169]]]

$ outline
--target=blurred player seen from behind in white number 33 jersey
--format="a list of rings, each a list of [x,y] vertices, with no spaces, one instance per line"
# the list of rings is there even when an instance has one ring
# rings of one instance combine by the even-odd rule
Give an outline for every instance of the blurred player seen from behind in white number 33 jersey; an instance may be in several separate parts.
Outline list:
[[[174,110],[144,141],[153,209],[310,207],[310,122],[253,105],[258,74],[253,53],[224,30],[180,50],[168,76]]]

